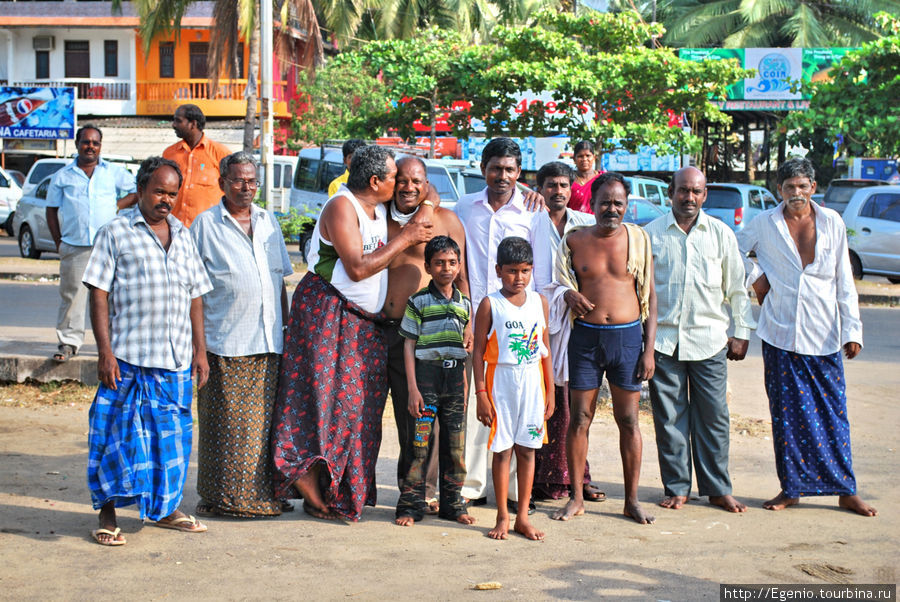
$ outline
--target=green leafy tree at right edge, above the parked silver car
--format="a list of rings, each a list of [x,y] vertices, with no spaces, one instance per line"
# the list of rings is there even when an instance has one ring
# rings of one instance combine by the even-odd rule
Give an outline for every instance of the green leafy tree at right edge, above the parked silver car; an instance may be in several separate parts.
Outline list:
[[[832,80],[808,84],[809,110],[783,123],[789,142],[816,132],[851,157],[900,156],[900,19],[878,18],[888,35],[845,55]]]

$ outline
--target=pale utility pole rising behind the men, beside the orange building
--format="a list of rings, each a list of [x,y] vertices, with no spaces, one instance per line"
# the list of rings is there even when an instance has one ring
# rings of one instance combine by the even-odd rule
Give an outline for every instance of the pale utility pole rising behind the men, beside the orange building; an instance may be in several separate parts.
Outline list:
[[[272,179],[275,177],[275,120],[272,115],[272,0],[259,2],[259,156],[262,162],[263,189],[262,198],[266,209],[274,211],[272,198]],[[280,210],[281,207],[278,207]]]

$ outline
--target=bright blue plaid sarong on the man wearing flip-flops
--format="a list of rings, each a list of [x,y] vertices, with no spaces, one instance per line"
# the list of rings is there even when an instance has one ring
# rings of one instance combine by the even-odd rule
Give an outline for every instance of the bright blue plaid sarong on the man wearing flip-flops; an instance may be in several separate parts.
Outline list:
[[[90,411],[88,487],[94,509],[137,504],[141,518],[178,509],[191,455],[191,370],[118,360],[118,390],[102,383]]]

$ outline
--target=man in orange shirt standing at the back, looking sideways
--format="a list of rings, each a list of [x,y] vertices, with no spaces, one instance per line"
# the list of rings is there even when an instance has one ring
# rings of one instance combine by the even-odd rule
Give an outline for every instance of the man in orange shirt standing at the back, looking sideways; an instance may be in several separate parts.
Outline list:
[[[228,147],[206,137],[205,125],[206,116],[200,107],[181,105],[172,119],[172,128],[181,140],[163,151],[163,157],[177,163],[184,176],[172,215],[186,227],[222,198],[219,161],[231,154]]]

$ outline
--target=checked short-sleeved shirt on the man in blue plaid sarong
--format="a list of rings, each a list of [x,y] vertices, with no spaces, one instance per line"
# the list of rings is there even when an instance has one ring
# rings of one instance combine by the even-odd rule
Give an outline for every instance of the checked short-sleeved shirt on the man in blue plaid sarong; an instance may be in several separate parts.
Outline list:
[[[191,299],[212,290],[190,232],[171,215],[169,251],[140,209],[97,233],[82,280],[109,293],[110,343],[118,359],[143,368],[191,364]]]

